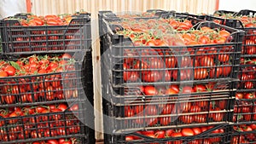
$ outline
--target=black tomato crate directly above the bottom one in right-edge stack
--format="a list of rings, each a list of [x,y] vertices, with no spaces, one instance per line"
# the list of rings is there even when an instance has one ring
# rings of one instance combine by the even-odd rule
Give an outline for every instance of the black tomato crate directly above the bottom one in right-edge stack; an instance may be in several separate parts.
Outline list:
[[[244,95],[255,95],[244,93]],[[236,100],[234,106],[233,122],[235,124],[255,124],[256,123],[256,99]]]

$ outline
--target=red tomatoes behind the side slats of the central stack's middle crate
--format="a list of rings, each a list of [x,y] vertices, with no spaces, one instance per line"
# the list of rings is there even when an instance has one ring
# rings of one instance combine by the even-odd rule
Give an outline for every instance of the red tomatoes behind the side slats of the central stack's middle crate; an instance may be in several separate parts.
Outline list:
[[[163,102],[157,105],[137,105],[125,107],[125,124],[138,124],[152,127],[172,124],[199,124],[221,122],[225,119],[227,100],[207,101],[200,99],[195,102]],[[154,118],[152,116],[157,116]]]

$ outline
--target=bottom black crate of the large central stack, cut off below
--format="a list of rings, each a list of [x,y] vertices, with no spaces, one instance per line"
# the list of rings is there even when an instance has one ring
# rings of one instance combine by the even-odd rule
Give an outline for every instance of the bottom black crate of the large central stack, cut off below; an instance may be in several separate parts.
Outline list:
[[[187,128],[190,129],[191,127],[187,127]],[[197,128],[201,129],[201,126],[198,126]],[[166,129],[166,131],[167,130],[172,130],[172,129]],[[222,132],[214,133],[214,131],[216,132],[218,130],[222,130]],[[229,130],[230,130],[230,126],[214,125],[199,135],[180,136],[180,137],[166,136],[165,138],[153,137],[153,136],[157,136],[157,131],[161,131],[161,130],[140,130],[140,131],[133,131],[131,133],[124,133],[121,135],[106,134],[104,136],[104,141],[106,144],[119,144],[119,143],[125,143],[125,144],[126,143],[143,143],[143,144],[218,143],[220,144],[220,143],[224,143],[225,141],[228,141],[227,134]],[[151,133],[154,133],[156,135],[152,135]]]

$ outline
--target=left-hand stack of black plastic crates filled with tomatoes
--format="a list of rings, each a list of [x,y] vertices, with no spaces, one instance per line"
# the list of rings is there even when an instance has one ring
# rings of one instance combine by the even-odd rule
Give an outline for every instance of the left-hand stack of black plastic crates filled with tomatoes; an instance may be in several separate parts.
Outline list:
[[[95,143],[90,14],[21,25],[28,15],[0,21],[1,72],[16,72],[0,78],[0,143]]]

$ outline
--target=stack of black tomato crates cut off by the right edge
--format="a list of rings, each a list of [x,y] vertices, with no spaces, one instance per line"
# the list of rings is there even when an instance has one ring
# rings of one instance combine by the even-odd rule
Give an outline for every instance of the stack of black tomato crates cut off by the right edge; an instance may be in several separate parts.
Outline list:
[[[256,142],[256,11],[243,9],[239,12],[216,11],[207,20],[231,26],[245,32],[241,47],[239,83],[233,115],[231,143]]]

